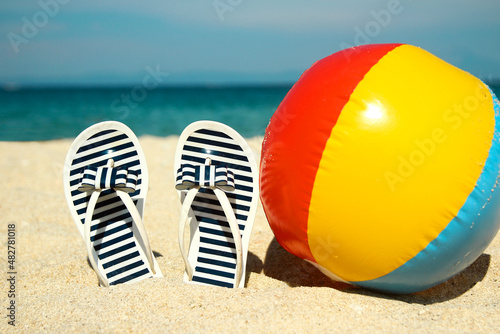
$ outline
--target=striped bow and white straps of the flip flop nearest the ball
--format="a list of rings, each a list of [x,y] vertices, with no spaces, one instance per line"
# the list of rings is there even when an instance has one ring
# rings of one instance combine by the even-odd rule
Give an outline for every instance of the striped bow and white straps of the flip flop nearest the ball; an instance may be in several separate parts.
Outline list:
[[[207,159],[205,165],[183,164],[177,170],[175,188],[177,190],[188,190],[184,203],[182,205],[181,217],[179,220],[179,245],[182,258],[184,259],[186,272],[189,280],[193,278],[193,267],[189,263],[184,248],[184,230],[191,204],[200,188],[210,188],[213,190],[219,203],[224,210],[231,234],[236,246],[236,275],[234,287],[237,288],[241,279],[242,269],[242,242],[240,229],[236,221],[231,203],[224,191],[234,191],[234,172],[224,165],[210,165],[210,159]],[[224,190],[224,191],[223,191]]]

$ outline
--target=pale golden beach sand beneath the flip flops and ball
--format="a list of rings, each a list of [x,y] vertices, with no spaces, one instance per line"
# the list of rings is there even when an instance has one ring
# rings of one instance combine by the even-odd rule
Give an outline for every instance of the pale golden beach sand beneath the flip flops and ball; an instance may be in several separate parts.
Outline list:
[[[259,159],[262,138],[249,139]],[[164,278],[101,288],[70,216],[62,164],[71,140],[0,142],[0,332],[494,333],[500,326],[500,234],[449,281],[396,296],[336,283],[289,254],[259,207],[247,287],[185,284],[173,185],[176,137],[141,137],[150,170],[144,222]],[[15,324],[8,325],[8,224],[16,226]]]

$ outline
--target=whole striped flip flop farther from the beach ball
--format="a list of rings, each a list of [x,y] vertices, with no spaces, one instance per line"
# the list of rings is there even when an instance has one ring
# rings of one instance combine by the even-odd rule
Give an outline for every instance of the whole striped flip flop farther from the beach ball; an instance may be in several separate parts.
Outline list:
[[[87,128],[68,151],[66,201],[101,286],[162,277],[142,222],[148,179],[139,141],[122,123]]]

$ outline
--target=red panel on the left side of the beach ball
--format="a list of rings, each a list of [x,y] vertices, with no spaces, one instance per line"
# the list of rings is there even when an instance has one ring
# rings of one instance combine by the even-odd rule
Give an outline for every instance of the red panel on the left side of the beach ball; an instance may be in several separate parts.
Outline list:
[[[399,45],[359,46],[316,62],[271,118],[262,144],[262,204],[277,241],[303,259],[314,261],[307,239],[307,220],[326,142],[358,83]]]

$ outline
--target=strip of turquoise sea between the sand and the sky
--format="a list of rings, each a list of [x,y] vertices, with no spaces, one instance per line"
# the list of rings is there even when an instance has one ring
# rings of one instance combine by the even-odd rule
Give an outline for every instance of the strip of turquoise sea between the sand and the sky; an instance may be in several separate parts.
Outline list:
[[[500,96],[500,82],[489,83]],[[137,136],[180,135],[190,123],[225,123],[246,138],[265,129],[292,84],[0,89],[0,141],[75,138],[92,124],[115,120]]]

